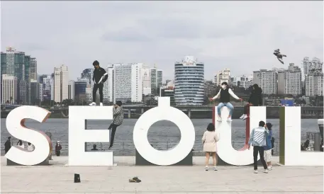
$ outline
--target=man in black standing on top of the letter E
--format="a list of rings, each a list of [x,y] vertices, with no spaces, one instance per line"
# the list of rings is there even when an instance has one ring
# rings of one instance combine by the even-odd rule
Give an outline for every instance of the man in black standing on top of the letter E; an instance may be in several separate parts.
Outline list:
[[[92,103],[89,105],[96,105],[96,91],[99,89],[99,95],[100,95],[100,106],[103,106],[102,103],[104,101],[104,94],[102,93],[102,90],[104,88],[104,82],[108,79],[108,73],[105,71],[104,68],[101,68],[99,66],[98,61],[94,61],[94,76],[92,76],[92,81],[94,81],[94,89],[92,91]]]

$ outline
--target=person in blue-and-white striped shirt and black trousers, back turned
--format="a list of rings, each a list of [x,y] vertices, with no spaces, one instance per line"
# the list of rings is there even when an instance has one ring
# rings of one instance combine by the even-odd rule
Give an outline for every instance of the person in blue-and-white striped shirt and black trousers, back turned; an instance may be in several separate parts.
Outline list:
[[[250,135],[248,149],[250,149],[252,144],[255,173],[257,173],[257,153],[258,152],[264,168],[264,173],[268,173],[268,166],[267,163],[264,161],[264,146],[267,145],[266,142],[267,135],[269,135],[269,130],[267,129],[267,125],[265,125],[265,122],[262,120],[259,122],[259,127],[253,129]]]

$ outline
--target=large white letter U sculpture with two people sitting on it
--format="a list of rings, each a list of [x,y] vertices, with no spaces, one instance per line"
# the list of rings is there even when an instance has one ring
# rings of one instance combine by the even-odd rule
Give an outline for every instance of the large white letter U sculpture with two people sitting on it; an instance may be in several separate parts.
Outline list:
[[[215,108],[215,118],[218,117],[217,108]],[[223,122],[215,120],[216,132],[220,134],[220,140],[217,142],[218,156],[228,164],[235,166],[244,166],[253,164],[253,147],[251,149],[236,150],[232,146],[232,122],[226,121],[228,117],[228,108],[221,110]],[[259,121],[266,122],[267,110],[264,106],[250,107],[250,133],[252,129],[259,125]],[[242,124],[242,130],[245,130],[245,122]],[[258,156],[259,160],[259,156]]]

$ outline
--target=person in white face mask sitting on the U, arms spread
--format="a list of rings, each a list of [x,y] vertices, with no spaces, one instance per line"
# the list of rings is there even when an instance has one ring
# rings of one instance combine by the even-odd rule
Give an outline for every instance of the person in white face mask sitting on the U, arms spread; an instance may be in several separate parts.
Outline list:
[[[217,121],[221,122],[222,118],[220,115],[220,109],[223,108],[223,106],[226,106],[227,108],[230,109],[230,113],[228,114],[228,121],[232,121],[232,114],[233,114],[233,110],[234,110],[234,106],[230,103],[230,96],[232,96],[233,98],[242,101],[242,98],[238,98],[238,96],[235,95],[235,93],[233,93],[233,91],[228,87],[228,83],[227,82],[223,82],[221,84],[221,89],[218,92],[218,94],[216,96],[214,96],[213,98],[209,98],[210,101],[215,100],[216,98],[220,98],[220,103],[217,106],[217,111],[218,111],[218,119]]]

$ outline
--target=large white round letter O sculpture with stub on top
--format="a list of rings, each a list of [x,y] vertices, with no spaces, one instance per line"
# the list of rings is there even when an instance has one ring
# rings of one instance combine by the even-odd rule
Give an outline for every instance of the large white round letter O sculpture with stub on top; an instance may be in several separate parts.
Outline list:
[[[179,127],[181,139],[176,147],[161,151],[154,149],[148,142],[147,132],[159,120],[169,120]],[[195,142],[195,130],[185,113],[170,106],[169,97],[159,97],[158,106],[147,110],[136,122],[133,139],[135,148],[144,159],[152,164],[167,166],[177,164],[191,152]]]

